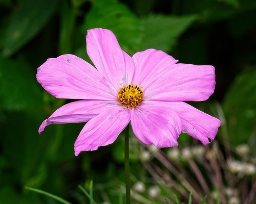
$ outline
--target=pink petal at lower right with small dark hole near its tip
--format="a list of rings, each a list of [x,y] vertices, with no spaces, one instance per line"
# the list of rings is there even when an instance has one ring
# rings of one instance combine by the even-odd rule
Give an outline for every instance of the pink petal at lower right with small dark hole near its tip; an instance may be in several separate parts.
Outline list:
[[[204,145],[214,140],[221,125],[219,119],[184,102],[148,101],[146,103],[164,106],[166,110],[175,111],[181,118],[182,132],[200,140]]]

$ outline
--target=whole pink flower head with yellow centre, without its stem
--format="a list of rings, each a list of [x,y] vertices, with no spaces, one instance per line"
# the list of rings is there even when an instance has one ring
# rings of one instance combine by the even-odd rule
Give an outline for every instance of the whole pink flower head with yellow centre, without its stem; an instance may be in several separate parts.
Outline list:
[[[110,30],[87,34],[88,62],[74,56],[50,58],[37,81],[56,98],[82,99],[57,109],[39,127],[87,122],[75,142],[75,155],[113,143],[131,121],[136,137],[158,148],[177,146],[181,132],[204,145],[221,122],[182,101],[207,100],[215,89],[215,68],[176,64],[161,50],[127,55]]]

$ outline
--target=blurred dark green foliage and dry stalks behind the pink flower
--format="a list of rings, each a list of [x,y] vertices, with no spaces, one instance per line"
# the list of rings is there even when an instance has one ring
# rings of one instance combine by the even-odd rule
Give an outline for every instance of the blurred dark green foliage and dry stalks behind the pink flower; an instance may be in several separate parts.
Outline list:
[[[122,203],[124,139],[74,156],[84,124],[40,123],[72,100],[56,99],[36,81],[47,58],[86,53],[88,29],[112,30],[130,55],[155,48],[181,63],[214,65],[216,90],[190,103],[222,120],[214,142],[188,135],[178,148],[156,149],[131,132],[133,203],[256,203],[256,1],[1,0],[0,203],[89,203],[78,188],[93,181],[97,203]],[[205,197],[207,196],[207,197]]]

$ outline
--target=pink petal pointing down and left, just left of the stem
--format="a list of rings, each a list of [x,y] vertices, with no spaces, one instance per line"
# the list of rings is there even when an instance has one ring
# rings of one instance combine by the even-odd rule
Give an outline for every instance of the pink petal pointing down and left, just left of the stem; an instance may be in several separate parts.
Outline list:
[[[131,120],[130,110],[121,106],[106,109],[84,125],[75,142],[75,156],[113,143]]]

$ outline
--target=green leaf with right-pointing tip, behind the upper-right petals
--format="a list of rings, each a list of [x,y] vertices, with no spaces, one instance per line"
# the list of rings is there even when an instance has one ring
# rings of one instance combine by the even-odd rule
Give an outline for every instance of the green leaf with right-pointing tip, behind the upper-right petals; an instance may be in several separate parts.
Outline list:
[[[143,39],[141,50],[155,48],[167,52],[177,43],[179,36],[196,20],[195,15],[150,15],[141,19]]]

